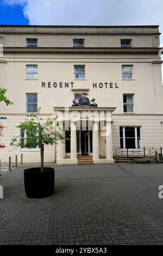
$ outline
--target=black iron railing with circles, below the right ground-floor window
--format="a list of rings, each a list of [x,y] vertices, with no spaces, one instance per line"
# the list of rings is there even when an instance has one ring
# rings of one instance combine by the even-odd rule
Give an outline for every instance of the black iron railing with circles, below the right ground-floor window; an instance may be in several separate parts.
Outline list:
[[[141,149],[121,149],[113,148],[113,155],[119,157],[155,157],[157,152],[162,154],[162,147],[160,148],[141,148]]]

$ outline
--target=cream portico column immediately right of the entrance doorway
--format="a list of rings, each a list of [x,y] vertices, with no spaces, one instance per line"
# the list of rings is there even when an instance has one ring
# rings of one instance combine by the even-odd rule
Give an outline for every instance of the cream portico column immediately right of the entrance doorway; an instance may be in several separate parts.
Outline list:
[[[93,121],[93,162],[99,160],[99,135],[98,135],[98,121]]]

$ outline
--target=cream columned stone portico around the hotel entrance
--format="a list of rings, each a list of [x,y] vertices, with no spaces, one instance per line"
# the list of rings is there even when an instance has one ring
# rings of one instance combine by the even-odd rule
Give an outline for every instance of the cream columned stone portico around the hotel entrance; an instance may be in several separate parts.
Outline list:
[[[70,130],[70,158],[66,157],[65,143],[57,144],[57,164],[77,164],[77,131],[92,131],[93,163],[114,163],[112,153],[112,112],[115,107],[54,107],[55,121],[64,121],[65,130]],[[65,135],[65,134],[64,134]],[[104,137],[105,156],[101,155],[101,138]]]

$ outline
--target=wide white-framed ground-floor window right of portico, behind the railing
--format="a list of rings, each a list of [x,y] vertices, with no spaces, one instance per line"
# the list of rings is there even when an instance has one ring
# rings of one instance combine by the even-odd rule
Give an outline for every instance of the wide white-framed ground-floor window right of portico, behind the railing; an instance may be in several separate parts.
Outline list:
[[[140,127],[120,127],[121,149],[140,149]]]

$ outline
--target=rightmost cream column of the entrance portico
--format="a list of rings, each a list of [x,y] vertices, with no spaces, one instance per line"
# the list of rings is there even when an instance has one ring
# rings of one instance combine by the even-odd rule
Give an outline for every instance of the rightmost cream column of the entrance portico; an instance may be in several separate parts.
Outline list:
[[[106,121],[106,160],[109,162],[114,162],[112,151],[111,120]]]

